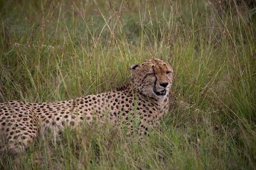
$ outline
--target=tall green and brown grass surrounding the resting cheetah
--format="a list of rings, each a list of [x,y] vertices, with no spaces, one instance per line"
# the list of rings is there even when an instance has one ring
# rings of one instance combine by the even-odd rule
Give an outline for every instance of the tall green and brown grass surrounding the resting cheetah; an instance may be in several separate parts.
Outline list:
[[[106,92],[155,57],[175,75],[169,113],[150,137],[83,125],[38,137],[20,163],[1,153],[0,169],[256,169],[255,7],[8,0],[0,9],[0,102]]]

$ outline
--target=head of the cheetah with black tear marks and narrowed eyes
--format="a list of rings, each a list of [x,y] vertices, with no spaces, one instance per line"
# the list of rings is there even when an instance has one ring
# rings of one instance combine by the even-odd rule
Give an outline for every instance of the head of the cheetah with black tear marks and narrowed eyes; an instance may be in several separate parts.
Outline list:
[[[159,59],[146,60],[140,65],[130,66],[135,88],[143,95],[163,99],[173,82],[173,68]]]

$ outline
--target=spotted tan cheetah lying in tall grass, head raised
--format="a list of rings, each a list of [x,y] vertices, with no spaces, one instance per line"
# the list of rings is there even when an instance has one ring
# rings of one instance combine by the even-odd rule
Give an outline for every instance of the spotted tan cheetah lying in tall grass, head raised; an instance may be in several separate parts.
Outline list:
[[[163,60],[131,65],[133,78],[115,90],[61,102],[0,104],[0,150],[24,152],[39,132],[60,135],[66,126],[109,121],[127,134],[147,134],[168,112],[173,68]]]

